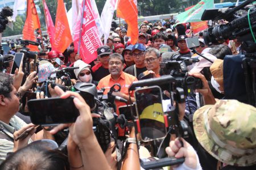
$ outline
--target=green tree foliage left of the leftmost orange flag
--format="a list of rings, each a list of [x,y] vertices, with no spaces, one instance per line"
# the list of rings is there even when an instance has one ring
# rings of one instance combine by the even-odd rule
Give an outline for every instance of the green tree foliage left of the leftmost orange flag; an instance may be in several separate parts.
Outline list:
[[[11,28],[6,26],[5,31],[3,31],[2,36],[7,37],[7,36],[13,36],[13,35],[20,35],[22,34],[23,31],[23,25],[24,21],[22,20],[21,16],[16,17],[16,22],[13,25],[13,30]]]

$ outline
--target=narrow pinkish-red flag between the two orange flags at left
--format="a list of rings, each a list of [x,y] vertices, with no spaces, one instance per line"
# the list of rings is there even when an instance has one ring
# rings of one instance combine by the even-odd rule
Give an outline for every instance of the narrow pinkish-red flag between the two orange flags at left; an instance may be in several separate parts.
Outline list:
[[[54,35],[55,35],[55,28],[54,24],[52,22],[51,14],[49,13],[46,0],[43,0],[43,6],[44,6],[44,16],[46,17],[46,27],[47,27],[47,33],[49,35],[49,40],[52,45],[52,50],[55,50],[54,46]]]

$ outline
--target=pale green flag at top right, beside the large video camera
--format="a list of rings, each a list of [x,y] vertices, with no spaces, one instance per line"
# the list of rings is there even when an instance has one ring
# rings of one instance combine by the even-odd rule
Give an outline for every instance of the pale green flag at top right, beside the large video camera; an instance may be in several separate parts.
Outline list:
[[[194,7],[177,15],[177,24],[200,22],[204,10],[214,8],[214,0],[202,0]],[[177,25],[175,24],[175,25]]]

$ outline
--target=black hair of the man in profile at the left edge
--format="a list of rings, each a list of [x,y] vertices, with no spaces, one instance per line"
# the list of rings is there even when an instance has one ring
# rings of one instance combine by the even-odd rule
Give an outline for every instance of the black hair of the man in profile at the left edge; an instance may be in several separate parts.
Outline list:
[[[0,73],[0,95],[11,97],[13,91],[13,77],[6,73]]]

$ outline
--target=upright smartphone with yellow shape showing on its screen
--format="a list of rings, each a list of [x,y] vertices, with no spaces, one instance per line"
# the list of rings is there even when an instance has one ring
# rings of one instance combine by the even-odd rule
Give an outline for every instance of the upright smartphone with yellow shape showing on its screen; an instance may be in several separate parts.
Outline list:
[[[143,142],[162,139],[167,134],[162,98],[162,91],[159,86],[135,90],[136,112]]]

